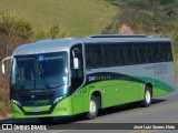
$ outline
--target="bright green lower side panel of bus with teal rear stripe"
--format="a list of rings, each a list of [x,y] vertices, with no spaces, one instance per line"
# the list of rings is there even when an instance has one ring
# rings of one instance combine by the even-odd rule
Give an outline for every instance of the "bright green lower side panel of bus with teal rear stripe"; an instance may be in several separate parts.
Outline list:
[[[76,100],[76,106],[78,106],[78,109],[73,108],[73,110],[77,110],[77,112],[73,112],[73,114],[89,111],[90,98],[96,91],[100,92],[101,94],[101,108],[103,109],[144,100],[145,88],[147,83],[152,84],[152,96],[160,96],[174,90],[167,83],[156,79],[144,76],[135,78],[144,82],[106,80],[86,85],[85,88],[80,89],[82,96],[79,96],[79,91],[75,94],[76,96],[78,95],[78,98],[76,98],[78,99]]]

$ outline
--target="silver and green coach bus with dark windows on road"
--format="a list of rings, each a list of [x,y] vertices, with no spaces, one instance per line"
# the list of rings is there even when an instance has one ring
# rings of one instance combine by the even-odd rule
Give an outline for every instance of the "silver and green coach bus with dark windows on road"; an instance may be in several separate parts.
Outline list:
[[[17,48],[11,57],[10,105],[14,119],[86,114],[151,99],[175,89],[168,38],[101,34],[42,40]]]

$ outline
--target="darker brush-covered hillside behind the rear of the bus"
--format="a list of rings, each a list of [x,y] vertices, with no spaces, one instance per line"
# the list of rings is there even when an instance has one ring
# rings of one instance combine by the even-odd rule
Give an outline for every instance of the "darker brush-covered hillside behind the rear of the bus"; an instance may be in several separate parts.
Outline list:
[[[118,7],[119,12],[103,33],[119,33],[119,28],[127,24],[138,34],[170,38],[178,71],[178,0],[106,1]]]

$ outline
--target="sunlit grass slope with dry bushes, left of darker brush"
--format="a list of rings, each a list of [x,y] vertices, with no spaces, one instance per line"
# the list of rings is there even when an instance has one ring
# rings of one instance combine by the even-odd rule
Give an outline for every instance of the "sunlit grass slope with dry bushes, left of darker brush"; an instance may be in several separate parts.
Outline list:
[[[0,60],[31,41],[101,33],[117,13],[103,0],[0,0]],[[3,116],[10,113],[10,64],[7,65],[7,74],[0,74],[0,115]]]

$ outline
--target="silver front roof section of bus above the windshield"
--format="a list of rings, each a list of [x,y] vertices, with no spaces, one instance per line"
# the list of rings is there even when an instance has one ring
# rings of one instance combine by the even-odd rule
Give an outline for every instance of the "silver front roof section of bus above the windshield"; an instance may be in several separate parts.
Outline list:
[[[58,51],[68,51],[76,43],[81,43],[77,38],[63,38],[55,40],[41,40],[17,48],[13,55],[26,55],[37,53],[48,53]]]

